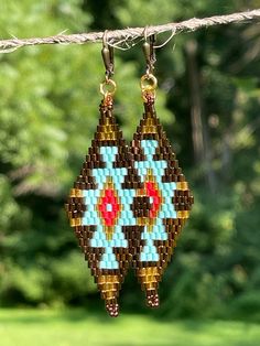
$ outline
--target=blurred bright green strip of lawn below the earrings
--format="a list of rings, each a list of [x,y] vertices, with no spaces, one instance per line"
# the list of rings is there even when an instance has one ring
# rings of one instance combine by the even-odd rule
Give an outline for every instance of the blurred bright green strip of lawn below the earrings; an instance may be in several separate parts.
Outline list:
[[[258,346],[260,326],[231,321],[112,320],[83,310],[0,310],[1,346]]]

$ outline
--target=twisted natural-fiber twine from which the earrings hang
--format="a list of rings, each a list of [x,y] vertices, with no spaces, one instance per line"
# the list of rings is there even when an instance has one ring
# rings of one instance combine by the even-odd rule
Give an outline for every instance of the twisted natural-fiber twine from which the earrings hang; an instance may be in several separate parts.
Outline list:
[[[172,32],[171,37],[181,32],[196,31],[201,28],[208,28],[214,25],[248,22],[253,19],[260,18],[260,9],[238,12],[228,15],[214,15],[209,18],[197,19],[193,18],[178,23],[167,23],[163,25],[148,26],[147,36],[152,34],[160,34],[164,32]],[[126,48],[130,48],[134,45],[134,40],[142,37],[144,28],[127,28],[123,30],[108,31],[108,43],[115,47],[119,47],[124,44]],[[10,53],[17,48],[40,45],[40,44],[84,44],[87,42],[100,42],[102,41],[104,32],[91,32],[82,34],[64,35],[58,34],[48,37],[32,37],[32,39],[11,39],[0,40],[0,53]]]

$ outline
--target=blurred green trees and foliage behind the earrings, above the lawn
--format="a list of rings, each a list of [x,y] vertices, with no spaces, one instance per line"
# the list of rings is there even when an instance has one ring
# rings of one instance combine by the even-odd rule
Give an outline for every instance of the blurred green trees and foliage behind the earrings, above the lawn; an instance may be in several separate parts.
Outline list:
[[[258,7],[259,0],[10,0],[0,3],[0,36],[161,24]],[[218,26],[158,50],[158,113],[195,195],[161,285],[159,315],[260,320],[259,36],[256,23]],[[206,138],[201,161],[191,121],[191,46],[197,47]],[[130,140],[142,113],[144,58],[141,45],[116,55],[116,115]],[[21,48],[1,54],[0,67],[0,306],[101,310],[63,208],[98,121],[100,44]],[[121,301],[124,310],[144,310],[132,273]]]

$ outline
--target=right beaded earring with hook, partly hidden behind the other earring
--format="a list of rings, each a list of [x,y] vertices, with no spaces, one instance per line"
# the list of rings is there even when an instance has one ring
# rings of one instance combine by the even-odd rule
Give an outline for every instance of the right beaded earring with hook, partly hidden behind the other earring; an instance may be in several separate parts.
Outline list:
[[[194,198],[154,109],[158,85],[153,75],[154,35],[150,43],[145,40],[143,50],[147,58],[147,73],[141,77],[144,113],[130,148],[138,176],[131,206],[137,226],[132,227],[130,251],[147,304],[156,307],[159,282]]]

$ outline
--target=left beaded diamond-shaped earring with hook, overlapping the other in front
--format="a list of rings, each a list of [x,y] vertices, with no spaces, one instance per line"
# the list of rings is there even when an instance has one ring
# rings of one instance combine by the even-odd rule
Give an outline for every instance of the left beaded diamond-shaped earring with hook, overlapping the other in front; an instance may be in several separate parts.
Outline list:
[[[126,227],[134,225],[130,209],[134,192],[123,188],[128,152],[113,117],[113,52],[106,35],[101,52],[106,79],[100,84],[104,99],[99,125],[66,210],[106,309],[110,316],[117,316],[117,299],[130,259]]]

